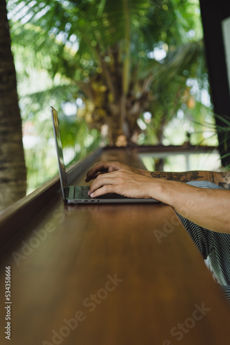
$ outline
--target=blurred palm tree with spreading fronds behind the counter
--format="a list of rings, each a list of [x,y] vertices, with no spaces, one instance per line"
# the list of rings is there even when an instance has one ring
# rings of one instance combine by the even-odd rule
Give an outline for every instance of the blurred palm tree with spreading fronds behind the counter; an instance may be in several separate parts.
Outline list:
[[[197,62],[202,41],[186,36],[194,28],[194,14],[187,11],[194,1],[179,4],[180,10],[176,0],[14,0],[10,9],[19,18],[15,43],[26,45],[25,55],[30,50],[36,66],[69,80],[74,95],[85,102],[81,115],[91,128],[107,127],[109,144],[121,139],[127,144],[136,140],[136,120],[143,112],[156,112],[172,94],[179,104],[185,97],[180,90],[189,93],[187,78],[204,71]],[[166,59],[151,59],[154,48],[165,51]],[[169,78],[174,88],[169,89]],[[171,116],[165,107],[161,125],[152,124],[158,139]]]

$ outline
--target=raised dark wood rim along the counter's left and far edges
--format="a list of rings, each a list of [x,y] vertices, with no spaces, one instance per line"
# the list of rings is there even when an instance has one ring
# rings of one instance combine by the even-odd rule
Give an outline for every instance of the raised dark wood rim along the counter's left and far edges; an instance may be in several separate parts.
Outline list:
[[[115,146],[105,146],[103,148],[98,148],[94,152],[90,153],[84,159],[76,162],[70,168],[67,169],[67,179],[69,184],[72,183],[74,179],[80,177],[86,168],[89,168],[98,157],[107,153],[116,152],[114,159],[119,159],[119,153],[125,152],[127,157],[134,157],[136,155],[136,166],[140,168],[145,168],[143,162],[140,159],[139,154],[145,154],[148,152],[195,152],[200,150],[207,152],[207,150],[214,150],[215,147],[207,146],[136,146],[128,145],[125,147],[115,147]],[[117,155],[117,157],[116,157]],[[113,158],[112,158],[113,159]],[[132,161],[132,159],[131,159]],[[129,164],[129,162],[128,162]],[[50,179],[50,181],[43,184],[43,186],[34,190],[30,195],[26,195],[19,201],[15,202],[3,213],[0,214],[0,240],[1,247],[5,248],[9,241],[19,233],[19,231],[26,226],[34,217],[36,217],[52,200],[61,193],[60,179],[59,175]]]

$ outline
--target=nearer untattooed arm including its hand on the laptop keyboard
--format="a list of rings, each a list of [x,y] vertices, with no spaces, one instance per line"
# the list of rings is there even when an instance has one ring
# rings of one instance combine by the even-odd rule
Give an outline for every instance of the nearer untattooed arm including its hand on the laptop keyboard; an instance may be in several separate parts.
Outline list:
[[[108,167],[109,164],[104,165],[107,171]],[[91,197],[106,193],[117,193],[126,197],[150,197],[172,206],[177,213],[203,228],[230,233],[230,190],[197,188],[180,181],[153,178],[151,172],[147,176],[141,175],[141,172],[136,170],[121,168],[121,166],[117,170],[115,168],[94,179],[90,185]],[[218,183],[224,181],[229,184],[228,175],[217,174],[214,181],[219,181]],[[165,176],[167,177],[169,176]]]

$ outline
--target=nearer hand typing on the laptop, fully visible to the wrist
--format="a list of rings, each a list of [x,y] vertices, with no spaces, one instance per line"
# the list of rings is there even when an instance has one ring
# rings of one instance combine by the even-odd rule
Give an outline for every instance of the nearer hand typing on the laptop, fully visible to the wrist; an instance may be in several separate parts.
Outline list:
[[[125,168],[100,174],[90,185],[90,197],[116,193],[132,198],[151,198],[153,180]]]

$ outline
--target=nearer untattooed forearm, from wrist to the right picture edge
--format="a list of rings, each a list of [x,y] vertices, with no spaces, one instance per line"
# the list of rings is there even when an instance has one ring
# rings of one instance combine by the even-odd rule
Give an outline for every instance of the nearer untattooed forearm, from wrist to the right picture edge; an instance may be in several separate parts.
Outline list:
[[[177,181],[156,179],[152,197],[169,204],[195,224],[220,233],[230,233],[230,191],[197,188]]]

